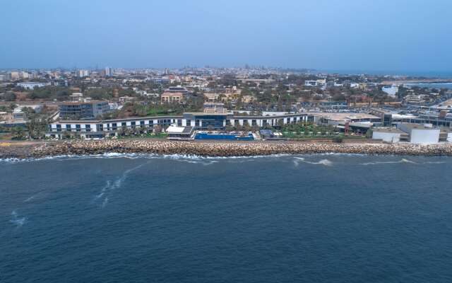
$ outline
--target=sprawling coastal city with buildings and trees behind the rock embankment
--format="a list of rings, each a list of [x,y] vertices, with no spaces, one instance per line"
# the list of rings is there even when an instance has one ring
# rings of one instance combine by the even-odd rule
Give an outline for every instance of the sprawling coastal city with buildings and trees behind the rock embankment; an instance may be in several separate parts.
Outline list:
[[[0,71],[0,139],[452,141],[452,80],[267,67]]]

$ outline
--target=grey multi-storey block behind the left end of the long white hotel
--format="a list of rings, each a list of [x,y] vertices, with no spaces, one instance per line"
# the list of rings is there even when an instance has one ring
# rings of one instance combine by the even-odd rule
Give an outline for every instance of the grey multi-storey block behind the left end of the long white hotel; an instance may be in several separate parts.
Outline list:
[[[66,102],[59,105],[59,117],[62,119],[93,119],[110,111],[107,101]]]

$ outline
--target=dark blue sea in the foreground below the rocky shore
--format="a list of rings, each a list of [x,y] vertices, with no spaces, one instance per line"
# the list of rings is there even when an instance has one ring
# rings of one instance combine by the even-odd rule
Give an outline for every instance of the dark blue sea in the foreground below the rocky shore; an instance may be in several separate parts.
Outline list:
[[[452,282],[452,158],[0,161],[0,282]]]

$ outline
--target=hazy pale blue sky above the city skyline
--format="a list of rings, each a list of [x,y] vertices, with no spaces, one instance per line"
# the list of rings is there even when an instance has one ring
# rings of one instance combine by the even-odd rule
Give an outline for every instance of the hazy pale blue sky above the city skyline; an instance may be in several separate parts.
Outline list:
[[[0,68],[451,71],[451,0],[10,0]]]

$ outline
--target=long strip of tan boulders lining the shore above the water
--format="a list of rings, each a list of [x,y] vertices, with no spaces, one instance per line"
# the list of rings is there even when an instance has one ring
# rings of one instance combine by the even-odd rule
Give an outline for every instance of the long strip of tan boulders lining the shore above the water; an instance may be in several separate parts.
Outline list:
[[[369,154],[452,156],[452,144],[371,144],[331,142],[196,142],[166,140],[100,140],[40,142],[0,146],[0,158],[43,158],[91,154],[182,154],[194,156],[263,156],[270,154]]]

